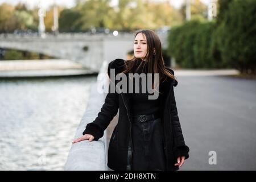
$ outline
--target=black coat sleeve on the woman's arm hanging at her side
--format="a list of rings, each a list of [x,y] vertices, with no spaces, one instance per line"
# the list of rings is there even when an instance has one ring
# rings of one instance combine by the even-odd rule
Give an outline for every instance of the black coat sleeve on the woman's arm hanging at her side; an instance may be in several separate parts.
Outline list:
[[[171,87],[171,121],[172,121],[172,133],[174,141],[174,156],[185,156],[188,159],[189,147],[185,145],[183,133],[181,130],[180,119],[177,113],[177,106],[174,95],[174,86]]]

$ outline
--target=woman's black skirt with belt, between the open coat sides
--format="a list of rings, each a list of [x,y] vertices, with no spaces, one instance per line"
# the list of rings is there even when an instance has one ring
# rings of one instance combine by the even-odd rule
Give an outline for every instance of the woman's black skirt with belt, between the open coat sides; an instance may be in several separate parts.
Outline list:
[[[153,117],[152,117],[153,116]],[[154,114],[133,117],[131,170],[165,170],[163,124]]]

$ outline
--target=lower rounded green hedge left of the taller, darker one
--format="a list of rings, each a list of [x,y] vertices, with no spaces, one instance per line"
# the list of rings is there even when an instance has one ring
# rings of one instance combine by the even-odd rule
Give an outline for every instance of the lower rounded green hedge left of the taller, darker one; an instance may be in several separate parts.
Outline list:
[[[191,20],[171,29],[168,51],[183,68],[217,67],[210,55],[215,23]]]

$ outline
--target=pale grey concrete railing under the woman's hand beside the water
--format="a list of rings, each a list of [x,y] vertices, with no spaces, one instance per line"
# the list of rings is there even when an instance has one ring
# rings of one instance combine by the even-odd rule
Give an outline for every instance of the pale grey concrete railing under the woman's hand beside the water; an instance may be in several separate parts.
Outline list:
[[[85,126],[94,121],[104,104],[106,93],[98,92],[97,87],[100,86],[100,80],[102,79],[100,73],[106,73],[107,68],[108,62],[104,61],[97,77],[97,83],[91,87],[88,105],[80,125],[77,128],[75,138],[82,136]],[[106,77],[106,81],[109,81],[108,76]],[[105,130],[104,137],[100,138],[98,141],[89,142],[89,140],[84,140],[72,144],[64,170],[108,170],[106,166],[106,138]]]

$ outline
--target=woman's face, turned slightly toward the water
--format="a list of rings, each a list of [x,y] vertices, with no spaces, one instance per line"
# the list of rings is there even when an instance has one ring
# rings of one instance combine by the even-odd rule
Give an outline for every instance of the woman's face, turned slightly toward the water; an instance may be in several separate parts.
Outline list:
[[[134,56],[137,58],[144,59],[147,55],[147,39],[146,36],[142,33],[139,33],[135,39],[133,44]]]

